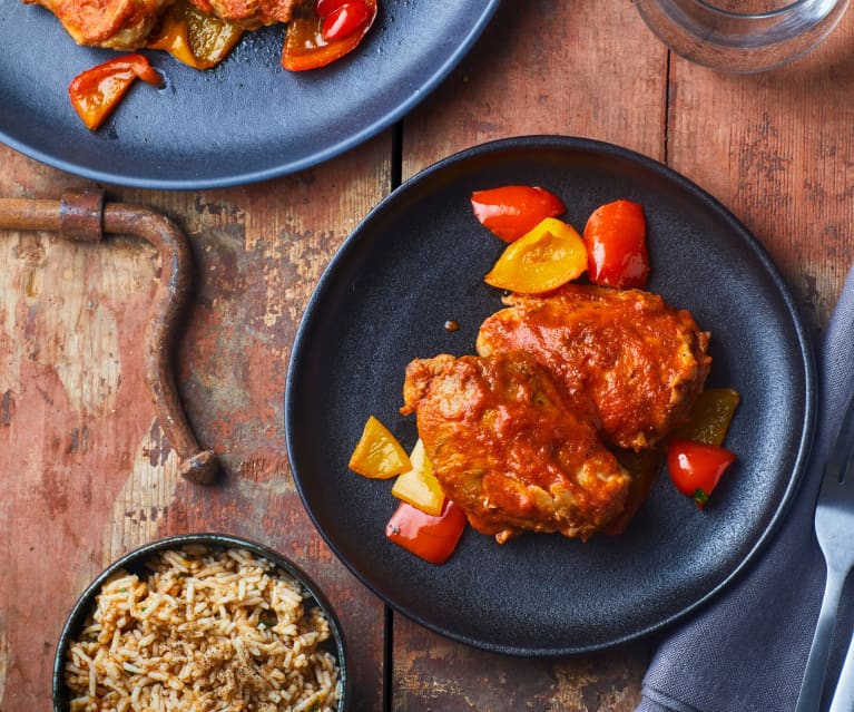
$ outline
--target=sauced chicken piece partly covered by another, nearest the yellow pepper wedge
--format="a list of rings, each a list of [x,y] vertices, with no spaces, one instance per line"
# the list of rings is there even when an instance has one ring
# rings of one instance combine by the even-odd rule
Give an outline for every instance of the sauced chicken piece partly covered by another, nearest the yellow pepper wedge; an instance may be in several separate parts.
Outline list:
[[[640,290],[568,284],[512,294],[481,325],[481,355],[524,350],[577,408],[589,407],[610,445],[654,447],[688,417],[711,359],[690,312]]]

